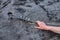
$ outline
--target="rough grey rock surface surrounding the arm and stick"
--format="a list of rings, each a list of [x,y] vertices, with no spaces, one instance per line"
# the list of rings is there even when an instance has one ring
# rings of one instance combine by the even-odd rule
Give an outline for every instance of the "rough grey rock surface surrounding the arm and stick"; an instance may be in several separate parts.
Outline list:
[[[0,40],[60,40],[59,34],[35,29],[17,18],[60,22],[60,0],[0,0]]]

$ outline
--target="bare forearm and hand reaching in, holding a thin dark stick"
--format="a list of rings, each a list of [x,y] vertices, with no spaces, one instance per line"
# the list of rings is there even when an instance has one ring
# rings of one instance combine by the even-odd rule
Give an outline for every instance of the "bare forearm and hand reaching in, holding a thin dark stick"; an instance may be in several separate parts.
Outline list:
[[[44,22],[36,21],[37,26],[35,28],[40,30],[48,30],[60,34],[60,27],[56,26],[47,26]]]

